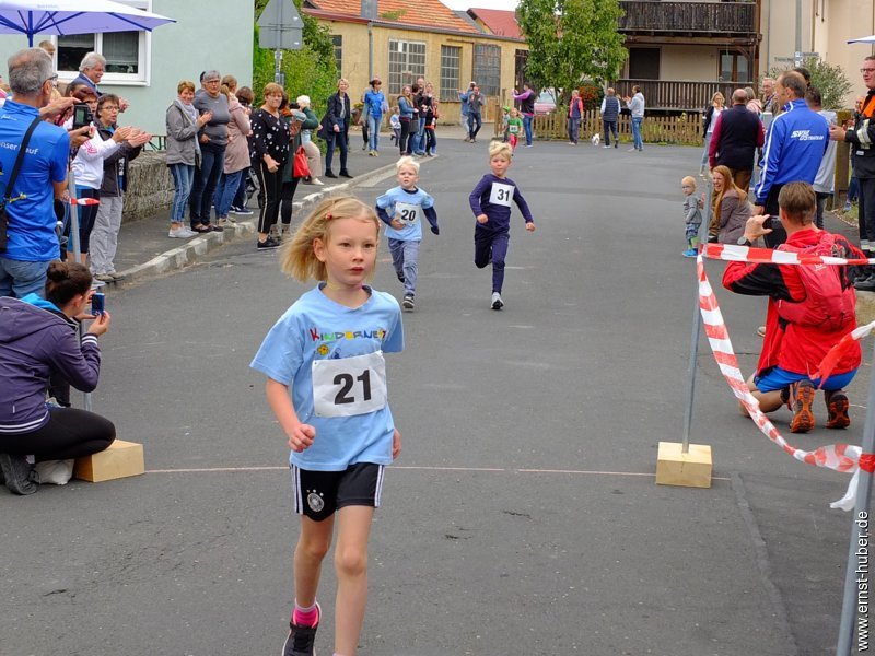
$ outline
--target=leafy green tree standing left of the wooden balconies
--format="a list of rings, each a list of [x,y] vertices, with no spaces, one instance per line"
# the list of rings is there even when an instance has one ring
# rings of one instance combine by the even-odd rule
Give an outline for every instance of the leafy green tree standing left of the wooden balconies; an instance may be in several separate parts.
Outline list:
[[[526,75],[534,85],[570,94],[583,80],[616,78],[626,61],[618,0],[521,0],[516,17],[528,44]]]

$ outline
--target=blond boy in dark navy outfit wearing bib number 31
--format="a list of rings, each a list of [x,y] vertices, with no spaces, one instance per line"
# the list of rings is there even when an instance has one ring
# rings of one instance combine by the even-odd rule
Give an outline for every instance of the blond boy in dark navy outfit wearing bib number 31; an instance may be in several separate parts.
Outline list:
[[[468,197],[471,211],[477,218],[474,229],[474,263],[478,269],[492,261],[492,309],[501,309],[504,301],[501,290],[504,284],[504,257],[511,239],[511,202],[523,213],[528,232],[535,231],[535,221],[516,184],[504,177],[511,165],[513,150],[509,143],[493,141],[489,145],[489,167]]]

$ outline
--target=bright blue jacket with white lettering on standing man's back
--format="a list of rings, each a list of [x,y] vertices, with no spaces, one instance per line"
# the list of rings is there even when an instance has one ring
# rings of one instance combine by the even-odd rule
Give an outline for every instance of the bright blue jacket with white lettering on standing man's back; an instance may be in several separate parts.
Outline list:
[[[804,99],[788,103],[766,138],[761,175],[755,196],[763,204],[773,185],[814,183],[829,145],[827,119],[808,109]]]

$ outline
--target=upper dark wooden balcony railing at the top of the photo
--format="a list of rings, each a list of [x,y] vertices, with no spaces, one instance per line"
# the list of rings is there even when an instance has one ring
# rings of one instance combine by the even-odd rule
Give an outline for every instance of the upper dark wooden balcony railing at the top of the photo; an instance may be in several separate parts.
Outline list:
[[[758,32],[755,2],[660,2],[620,0],[621,34],[732,36]]]

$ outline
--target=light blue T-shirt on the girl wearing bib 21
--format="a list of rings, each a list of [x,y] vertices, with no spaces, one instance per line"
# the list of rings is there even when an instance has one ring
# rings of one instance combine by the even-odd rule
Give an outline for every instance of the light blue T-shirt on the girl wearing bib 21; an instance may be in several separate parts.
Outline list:
[[[292,452],[292,465],[313,471],[343,471],[357,462],[392,462],[395,422],[388,402],[362,414],[317,414],[314,398],[314,361],[359,359],[373,353],[404,350],[404,328],[398,302],[385,292],[365,289],[371,297],[351,308],[328,298],[322,288],[303,294],[273,325],[252,361],[254,370],[291,388],[292,405],[302,423],[316,429],[313,444]],[[380,356],[382,358],[382,355]],[[353,361],[355,362],[355,361]],[[340,364],[343,363],[326,363]],[[336,385],[335,403],[358,403],[370,398],[369,371],[350,370],[329,377]],[[373,380],[376,393],[376,380]],[[330,385],[329,385],[330,386]],[[319,389],[325,390],[325,387]],[[336,393],[336,394],[335,394]]]

